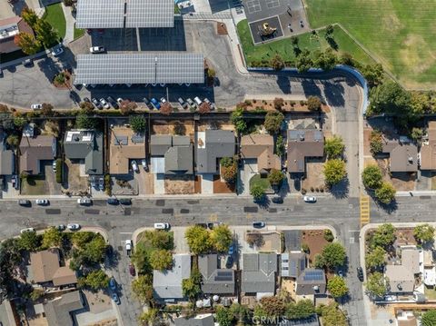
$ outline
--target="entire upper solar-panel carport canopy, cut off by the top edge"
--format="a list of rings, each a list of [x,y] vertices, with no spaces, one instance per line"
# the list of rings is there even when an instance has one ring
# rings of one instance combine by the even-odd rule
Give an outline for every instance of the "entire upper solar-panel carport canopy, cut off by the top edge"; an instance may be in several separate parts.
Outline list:
[[[173,0],[78,0],[77,28],[174,26]]]

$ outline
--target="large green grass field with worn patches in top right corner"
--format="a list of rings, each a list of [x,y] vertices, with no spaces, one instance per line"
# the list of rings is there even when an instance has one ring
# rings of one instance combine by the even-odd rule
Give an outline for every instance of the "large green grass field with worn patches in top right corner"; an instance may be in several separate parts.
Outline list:
[[[312,28],[341,23],[408,88],[435,88],[436,1],[305,0]]]

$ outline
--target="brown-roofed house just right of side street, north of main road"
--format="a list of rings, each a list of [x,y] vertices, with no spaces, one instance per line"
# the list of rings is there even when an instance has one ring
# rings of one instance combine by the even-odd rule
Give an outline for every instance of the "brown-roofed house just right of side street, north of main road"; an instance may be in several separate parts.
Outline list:
[[[389,154],[391,173],[418,171],[418,147],[407,137],[400,137],[399,140],[383,139],[381,153]]]

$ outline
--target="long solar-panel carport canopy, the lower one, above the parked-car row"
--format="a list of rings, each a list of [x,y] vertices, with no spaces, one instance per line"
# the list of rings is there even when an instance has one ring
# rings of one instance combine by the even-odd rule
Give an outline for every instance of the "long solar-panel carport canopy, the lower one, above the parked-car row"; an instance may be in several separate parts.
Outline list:
[[[203,84],[203,54],[79,54],[74,84]]]

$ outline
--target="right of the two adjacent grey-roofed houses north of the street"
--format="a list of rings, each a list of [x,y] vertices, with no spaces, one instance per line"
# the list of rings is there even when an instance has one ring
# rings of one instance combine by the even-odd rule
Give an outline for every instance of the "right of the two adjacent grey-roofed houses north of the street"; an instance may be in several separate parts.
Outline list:
[[[218,160],[233,157],[236,150],[234,133],[231,130],[206,130],[197,136],[197,173],[219,174]]]

